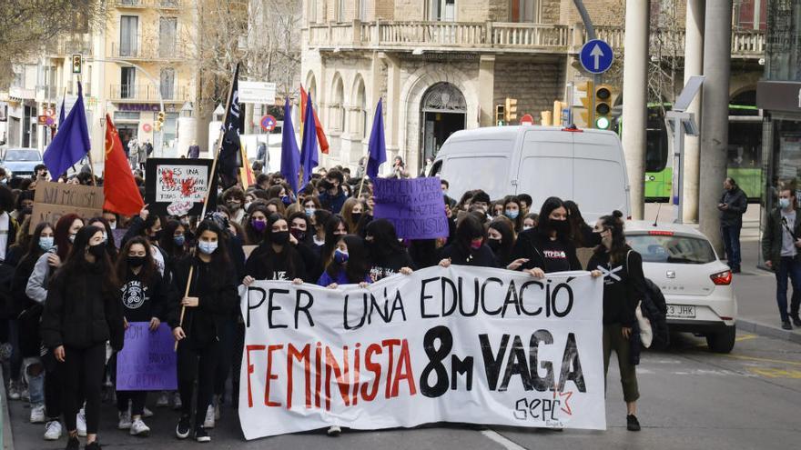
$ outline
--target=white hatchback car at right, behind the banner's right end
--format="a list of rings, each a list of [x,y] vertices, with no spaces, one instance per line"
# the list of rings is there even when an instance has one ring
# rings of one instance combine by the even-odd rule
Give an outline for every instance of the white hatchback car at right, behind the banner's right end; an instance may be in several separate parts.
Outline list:
[[[705,335],[709,349],[735,345],[737,299],[732,272],[701,232],[689,225],[626,222],[629,245],[643,255],[643,271],[662,290],[671,331]]]

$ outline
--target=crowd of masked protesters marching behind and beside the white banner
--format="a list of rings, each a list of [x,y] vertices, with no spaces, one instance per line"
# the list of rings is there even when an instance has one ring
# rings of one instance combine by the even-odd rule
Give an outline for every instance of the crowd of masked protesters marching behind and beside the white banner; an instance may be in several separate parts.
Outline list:
[[[81,173],[61,181],[100,180]],[[401,240],[390,221],[373,217],[370,181],[337,167],[320,169],[297,197],[282,175],[258,174],[255,185],[219,193],[206,217],[158,216],[146,205],[133,217],[63,215],[55,224],[35,224],[29,234],[35,182],[14,191],[0,186],[0,282],[7,281],[8,319],[2,337],[10,343],[5,373],[9,397],[30,402],[30,421],[45,424],[46,440],[66,435],[68,449],[78,448],[78,436],[86,436],[86,448],[100,448],[104,390],[117,404],[117,428],[130,435],[149,434],[145,421],[154,413],[147,405],[171,404],[179,411],[177,438],[210,441],[223,405],[238,402],[245,333],[238,285],[369,285],[433,265],[501,267],[533,277],[583,269],[593,276],[625,274],[603,280],[604,369],[614,350],[628,428],[639,429],[628,341],[644,280],[619,212],[588,225],[569,200],[532,205],[530,195],[492,199],[482,190],[457,200],[441,180],[450,234]],[[140,173],[137,183],[143,185]],[[255,249],[246,257],[248,245]],[[580,263],[578,248],[594,249],[589,265]],[[176,393],[115,391],[115,355],[132,322],[172,330]]]

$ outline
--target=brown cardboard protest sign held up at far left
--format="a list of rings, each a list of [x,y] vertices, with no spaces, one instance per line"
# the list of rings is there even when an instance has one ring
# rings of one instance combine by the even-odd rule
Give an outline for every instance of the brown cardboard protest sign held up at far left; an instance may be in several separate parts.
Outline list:
[[[102,215],[103,203],[102,187],[37,182],[28,233],[32,234],[36,225],[42,222],[56,225],[58,219],[66,214],[75,213],[85,219]]]

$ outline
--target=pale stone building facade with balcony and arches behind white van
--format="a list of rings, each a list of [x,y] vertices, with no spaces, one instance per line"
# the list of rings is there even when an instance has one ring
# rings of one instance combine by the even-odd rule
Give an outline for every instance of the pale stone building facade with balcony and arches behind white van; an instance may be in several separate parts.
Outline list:
[[[679,31],[669,37],[683,39],[684,1],[674,1]],[[622,51],[625,0],[584,4],[598,37]],[[507,97],[518,118],[539,124],[573,95],[569,84],[589,79],[577,63],[587,37],[573,0],[303,0],[302,15],[300,79],[331,143],[321,165],[352,167],[367,154],[379,98],[390,158],[419,173],[453,132],[496,125]],[[665,32],[658,25],[652,41]],[[735,41],[732,88],[753,90],[764,34],[737,31]]]

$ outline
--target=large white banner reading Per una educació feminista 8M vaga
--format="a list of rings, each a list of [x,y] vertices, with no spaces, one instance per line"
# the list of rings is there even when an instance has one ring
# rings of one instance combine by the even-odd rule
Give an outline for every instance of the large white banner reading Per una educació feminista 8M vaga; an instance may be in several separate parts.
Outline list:
[[[242,295],[239,421],[254,439],[431,422],[605,429],[603,281],[430,267],[368,288]]]

